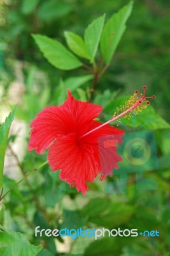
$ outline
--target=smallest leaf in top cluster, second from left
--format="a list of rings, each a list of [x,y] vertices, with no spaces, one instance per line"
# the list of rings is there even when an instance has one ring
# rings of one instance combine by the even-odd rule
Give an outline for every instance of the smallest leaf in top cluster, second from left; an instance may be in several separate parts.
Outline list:
[[[64,36],[66,37],[67,45],[69,49],[71,49],[71,51],[73,51],[76,55],[80,57],[88,60],[90,59],[85,46],[85,42],[83,41],[81,36],[69,31],[65,31]]]

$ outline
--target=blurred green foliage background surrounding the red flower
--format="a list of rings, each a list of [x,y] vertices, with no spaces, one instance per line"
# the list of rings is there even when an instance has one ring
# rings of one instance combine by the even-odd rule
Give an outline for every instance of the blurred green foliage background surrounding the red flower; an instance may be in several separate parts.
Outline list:
[[[31,172],[46,156],[27,152],[29,124],[45,106],[61,104],[60,81],[90,74],[84,68],[63,71],[43,57],[31,34],[57,39],[66,45],[64,31],[83,36],[92,20],[106,13],[106,20],[126,0],[0,0],[0,122],[16,104],[17,113],[5,162],[4,187]],[[29,177],[6,196],[1,221],[6,227],[25,234],[44,248],[38,255],[170,255],[170,1],[135,0],[127,29],[113,56],[111,65],[97,83],[93,102],[104,107],[101,120],[108,120],[122,99],[141,90],[144,84],[155,111],[123,120],[120,129],[138,132],[150,129],[157,147],[159,167],[145,172],[158,189],[136,190],[134,173],[128,175],[125,193],[106,193],[107,184],[118,176],[89,184],[86,196],[59,180],[50,168]],[[88,99],[92,81],[73,91],[76,99]],[[87,97],[87,98],[86,98]],[[161,117],[160,117],[161,116]],[[150,119],[151,118],[151,119]],[[148,135],[147,135],[148,136]],[[145,167],[144,167],[145,168]],[[123,170],[123,169],[121,169]],[[32,199],[33,198],[33,199]],[[18,203],[20,202],[20,203]],[[159,230],[160,237],[100,239],[52,239],[34,237],[34,228],[138,228]],[[43,254],[44,253],[44,254]]]

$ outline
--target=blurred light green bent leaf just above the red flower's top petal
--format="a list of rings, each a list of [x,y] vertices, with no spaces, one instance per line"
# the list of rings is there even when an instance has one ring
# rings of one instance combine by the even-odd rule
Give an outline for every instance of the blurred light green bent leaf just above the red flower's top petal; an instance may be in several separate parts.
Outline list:
[[[65,81],[60,80],[59,86],[55,91],[57,104],[62,104],[64,102],[64,100],[67,97],[67,89],[69,89],[71,92],[74,92],[76,88],[78,88],[82,84],[85,84],[87,81],[90,81],[92,79],[93,79],[92,75],[87,75],[87,76],[69,77]]]

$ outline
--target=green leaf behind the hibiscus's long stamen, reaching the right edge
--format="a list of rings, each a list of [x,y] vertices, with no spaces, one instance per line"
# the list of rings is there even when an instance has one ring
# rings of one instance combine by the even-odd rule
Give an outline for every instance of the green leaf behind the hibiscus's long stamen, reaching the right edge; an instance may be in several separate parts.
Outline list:
[[[110,113],[110,115],[113,115],[115,111],[117,111],[117,107],[120,108],[120,106],[124,106],[125,102],[129,100],[130,97],[120,97],[114,100],[114,102],[111,102],[104,108],[104,112]],[[110,118],[111,116],[107,116],[107,118]],[[155,112],[155,110],[152,108],[152,106],[147,106],[146,109],[143,109],[141,112],[138,112],[137,115],[132,114],[132,118],[127,119],[122,117],[120,126],[123,127],[141,127],[143,129],[169,129],[170,125],[164,120],[159,114]]]

